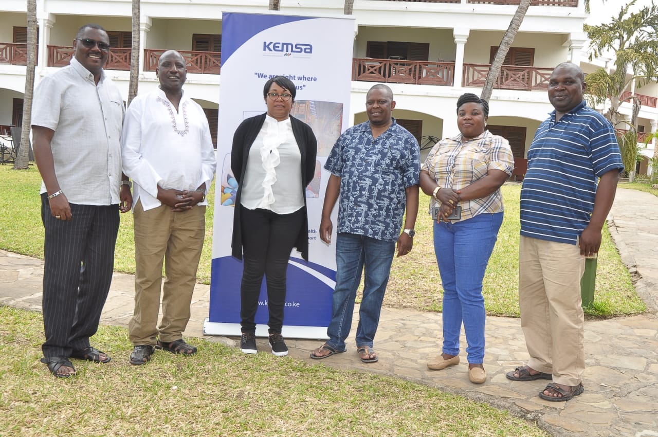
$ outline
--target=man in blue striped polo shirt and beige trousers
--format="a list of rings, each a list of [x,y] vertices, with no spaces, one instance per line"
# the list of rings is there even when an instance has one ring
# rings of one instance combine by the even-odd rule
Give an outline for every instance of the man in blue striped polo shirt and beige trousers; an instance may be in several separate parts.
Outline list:
[[[549,401],[583,392],[580,278],[585,257],[599,250],[624,168],[613,126],[586,105],[585,90],[580,67],[555,67],[555,111],[537,129],[521,188],[519,306],[530,361],[507,378],[552,379],[539,394]]]

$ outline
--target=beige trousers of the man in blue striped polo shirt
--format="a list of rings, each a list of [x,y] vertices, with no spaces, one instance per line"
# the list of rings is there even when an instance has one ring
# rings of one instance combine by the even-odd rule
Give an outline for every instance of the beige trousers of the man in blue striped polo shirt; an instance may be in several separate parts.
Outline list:
[[[585,257],[578,245],[521,236],[519,306],[530,353],[528,366],[576,386],[585,371],[580,278]]]

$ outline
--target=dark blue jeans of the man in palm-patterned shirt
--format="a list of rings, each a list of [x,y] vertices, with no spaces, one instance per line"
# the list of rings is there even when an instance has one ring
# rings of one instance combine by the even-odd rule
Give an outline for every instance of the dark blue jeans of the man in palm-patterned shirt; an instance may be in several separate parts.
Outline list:
[[[336,236],[336,288],[332,297],[332,319],[327,328],[329,346],[345,350],[345,338],[352,326],[354,299],[365,267],[356,340],[357,346],[372,347],[394,253],[394,242],[357,234]]]

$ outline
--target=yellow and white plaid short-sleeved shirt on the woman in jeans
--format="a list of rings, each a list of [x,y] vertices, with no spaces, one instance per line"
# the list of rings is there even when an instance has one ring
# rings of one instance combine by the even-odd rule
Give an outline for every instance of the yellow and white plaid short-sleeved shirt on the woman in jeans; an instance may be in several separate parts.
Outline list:
[[[420,170],[429,172],[441,188],[461,190],[486,176],[489,170],[512,174],[513,168],[514,157],[509,142],[485,130],[480,136],[465,143],[462,143],[461,134],[439,141],[427,155]],[[438,201],[432,197],[430,214],[435,205],[438,206]],[[461,220],[466,220],[482,213],[502,212],[503,196],[500,190],[496,190],[487,197],[463,201],[459,205]]]

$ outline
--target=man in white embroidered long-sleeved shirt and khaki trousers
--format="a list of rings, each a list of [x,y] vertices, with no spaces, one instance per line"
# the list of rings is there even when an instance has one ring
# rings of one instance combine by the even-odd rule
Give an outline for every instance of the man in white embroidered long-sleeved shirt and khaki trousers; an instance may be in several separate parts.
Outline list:
[[[133,365],[147,363],[155,348],[197,351],[182,332],[190,319],[215,150],[203,109],[182,89],[185,64],[177,51],[161,55],[160,88],[130,103],[121,135],[124,173],[134,182],[135,311],[128,325]],[[157,326],[163,262],[163,318]]]

